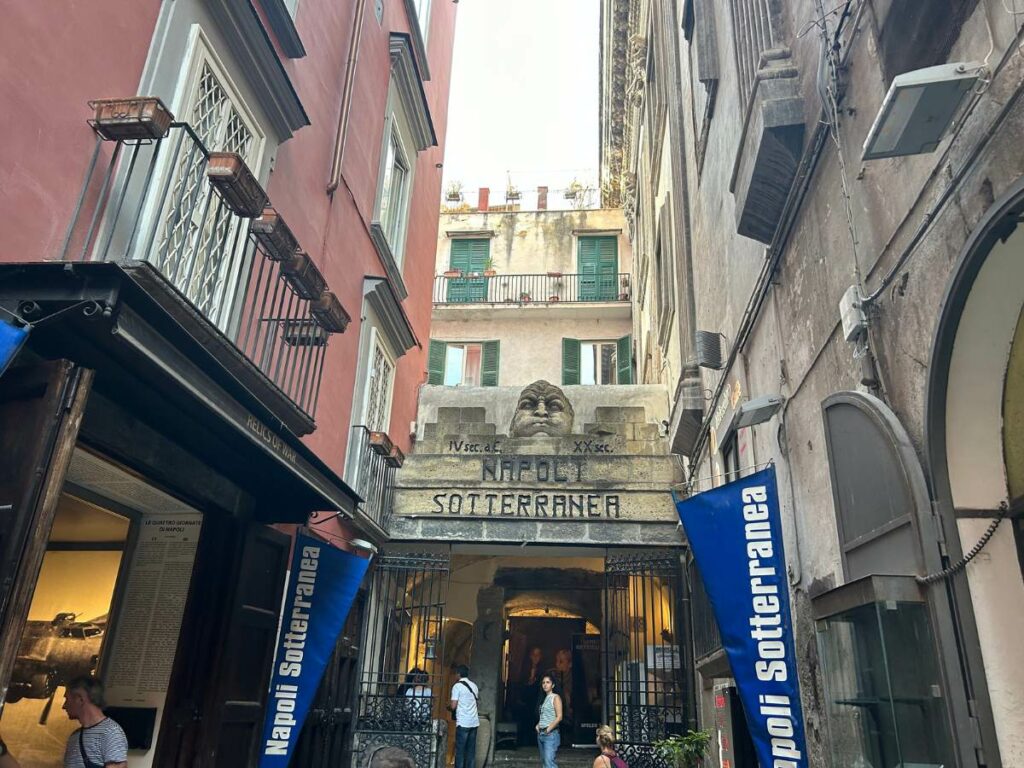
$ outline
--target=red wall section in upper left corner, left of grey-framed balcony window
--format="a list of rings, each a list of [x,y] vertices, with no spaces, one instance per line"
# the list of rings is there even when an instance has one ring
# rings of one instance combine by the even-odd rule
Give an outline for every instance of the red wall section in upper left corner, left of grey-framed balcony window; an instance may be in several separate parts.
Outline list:
[[[59,256],[95,145],[86,102],[135,93],[159,11],[153,0],[4,3],[0,260]]]

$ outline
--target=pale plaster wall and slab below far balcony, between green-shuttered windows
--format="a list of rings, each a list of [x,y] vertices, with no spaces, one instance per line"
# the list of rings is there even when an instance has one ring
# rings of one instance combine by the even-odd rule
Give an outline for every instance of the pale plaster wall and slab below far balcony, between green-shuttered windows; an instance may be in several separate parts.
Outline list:
[[[621,316],[581,317],[574,307],[488,307],[489,318],[442,319],[444,310],[435,312],[430,336],[442,341],[501,342],[498,383],[502,386],[525,386],[538,379],[562,383],[562,339],[612,341],[632,332],[629,308],[608,310]],[[464,315],[464,310],[452,312]]]

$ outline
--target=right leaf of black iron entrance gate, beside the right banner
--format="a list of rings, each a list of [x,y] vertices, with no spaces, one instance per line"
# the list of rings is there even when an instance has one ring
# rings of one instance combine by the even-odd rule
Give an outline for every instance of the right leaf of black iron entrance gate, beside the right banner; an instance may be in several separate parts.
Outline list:
[[[605,712],[630,768],[669,768],[654,742],[686,731],[682,572],[671,552],[608,555]]]

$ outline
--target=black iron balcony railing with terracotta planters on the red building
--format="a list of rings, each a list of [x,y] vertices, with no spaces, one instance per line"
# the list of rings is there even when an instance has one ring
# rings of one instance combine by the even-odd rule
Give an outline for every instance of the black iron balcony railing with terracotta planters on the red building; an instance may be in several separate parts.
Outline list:
[[[244,171],[258,210],[240,210],[237,179],[211,173],[225,159]],[[147,262],[311,420],[328,340],[348,317],[264,203],[242,159],[212,153],[186,123],[156,139],[97,130],[60,258]]]

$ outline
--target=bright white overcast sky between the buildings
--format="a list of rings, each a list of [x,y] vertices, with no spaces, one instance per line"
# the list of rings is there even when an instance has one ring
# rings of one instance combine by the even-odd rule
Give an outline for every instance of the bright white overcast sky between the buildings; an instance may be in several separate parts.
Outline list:
[[[552,208],[573,178],[596,187],[599,14],[600,0],[459,2],[445,186],[500,203],[508,173],[523,208],[539,184]]]

